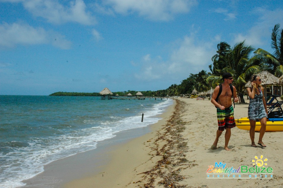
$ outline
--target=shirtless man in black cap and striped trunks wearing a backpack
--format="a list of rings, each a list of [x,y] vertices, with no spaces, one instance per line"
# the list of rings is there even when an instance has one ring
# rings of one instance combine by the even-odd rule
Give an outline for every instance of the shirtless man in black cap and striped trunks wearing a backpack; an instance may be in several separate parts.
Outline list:
[[[217,149],[218,138],[221,136],[224,129],[225,132],[225,146],[224,149],[229,151],[228,142],[231,137],[231,128],[236,126],[234,119],[234,109],[232,106],[232,94],[234,98],[234,102],[238,102],[238,98],[236,95],[236,88],[233,86],[233,93],[230,88],[230,84],[233,82],[233,76],[226,72],[222,76],[222,92],[218,97],[218,101],[216,101],[217,95],[219,93],[219,85],[214,89],[214,92],[211,97],[211,103],[215,105],[217,108],[217,120],[218,120],[218,130],[216,132],[216,139],[211,146],[211,149]]]

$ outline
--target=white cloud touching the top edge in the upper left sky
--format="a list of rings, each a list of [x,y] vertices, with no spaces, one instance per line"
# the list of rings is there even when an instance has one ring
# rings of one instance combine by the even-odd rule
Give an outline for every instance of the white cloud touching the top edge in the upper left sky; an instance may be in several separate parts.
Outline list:
[[[85,25],[96,23],[91,13],[86,11],[83,0],[70,1],[69,6],[63,6],[58,0],[26,0],[23,4],[34,16],[43,17],[50,23],[78,22]]]

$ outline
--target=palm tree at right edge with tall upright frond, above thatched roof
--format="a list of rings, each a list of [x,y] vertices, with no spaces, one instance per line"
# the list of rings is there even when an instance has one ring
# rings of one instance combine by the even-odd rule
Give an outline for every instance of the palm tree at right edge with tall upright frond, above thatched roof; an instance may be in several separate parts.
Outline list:
[[[264,70],[268,70],[277,77],[283,75],[283,29],[280,30],[279,27],[280,24],[276,24],[272,29],[271,47],[274,50],[273,54],[261,48],[254,52],[265,65]]]

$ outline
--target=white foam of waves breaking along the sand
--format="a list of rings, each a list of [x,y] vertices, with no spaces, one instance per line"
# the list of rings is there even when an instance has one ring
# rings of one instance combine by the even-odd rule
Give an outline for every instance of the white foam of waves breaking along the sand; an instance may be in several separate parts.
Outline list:
[[[0,153],[0,158],[6,161],[1,164],[0,187],[23,186],[22,180],[41,173],[44,165],[52,161],[95,149],[98,141],[113,138],[115,133],[120,131],[156,123],[159,120],[156,115],[161,114],[163,109],[170,104],[172,100],[164,100],[153,106],[140,105],[142,106],[140,112],[124,118],[113,115],[97,120],[84,119],[82,123],[88,125],[87,128],[78,127],[69,133],[57,133],[57,136],[33,137],[27,141],[27,144],[19,142],[21,147],[9,148],[7,153]],[[129,110],[129,108],[126,109]],[[141,122],[142,113],[144,113],[143,122]],[[77,119],[80,118],[74,121],[79,121]],[[66,127],[76,127],[71,125]],[[16,143],[16,141],[11,142]]]

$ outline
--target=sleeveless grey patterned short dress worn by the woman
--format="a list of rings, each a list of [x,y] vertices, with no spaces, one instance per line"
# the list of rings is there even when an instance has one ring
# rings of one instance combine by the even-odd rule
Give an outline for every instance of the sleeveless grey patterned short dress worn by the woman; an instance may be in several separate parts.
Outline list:
[[[261,118],[267,118],[265,108],[262,101],[262,91],[259,88],[259,95],[254,95],[254,99],[250,98],[250,104],[248,108],[248,116],[251,120],[257,120]]]

